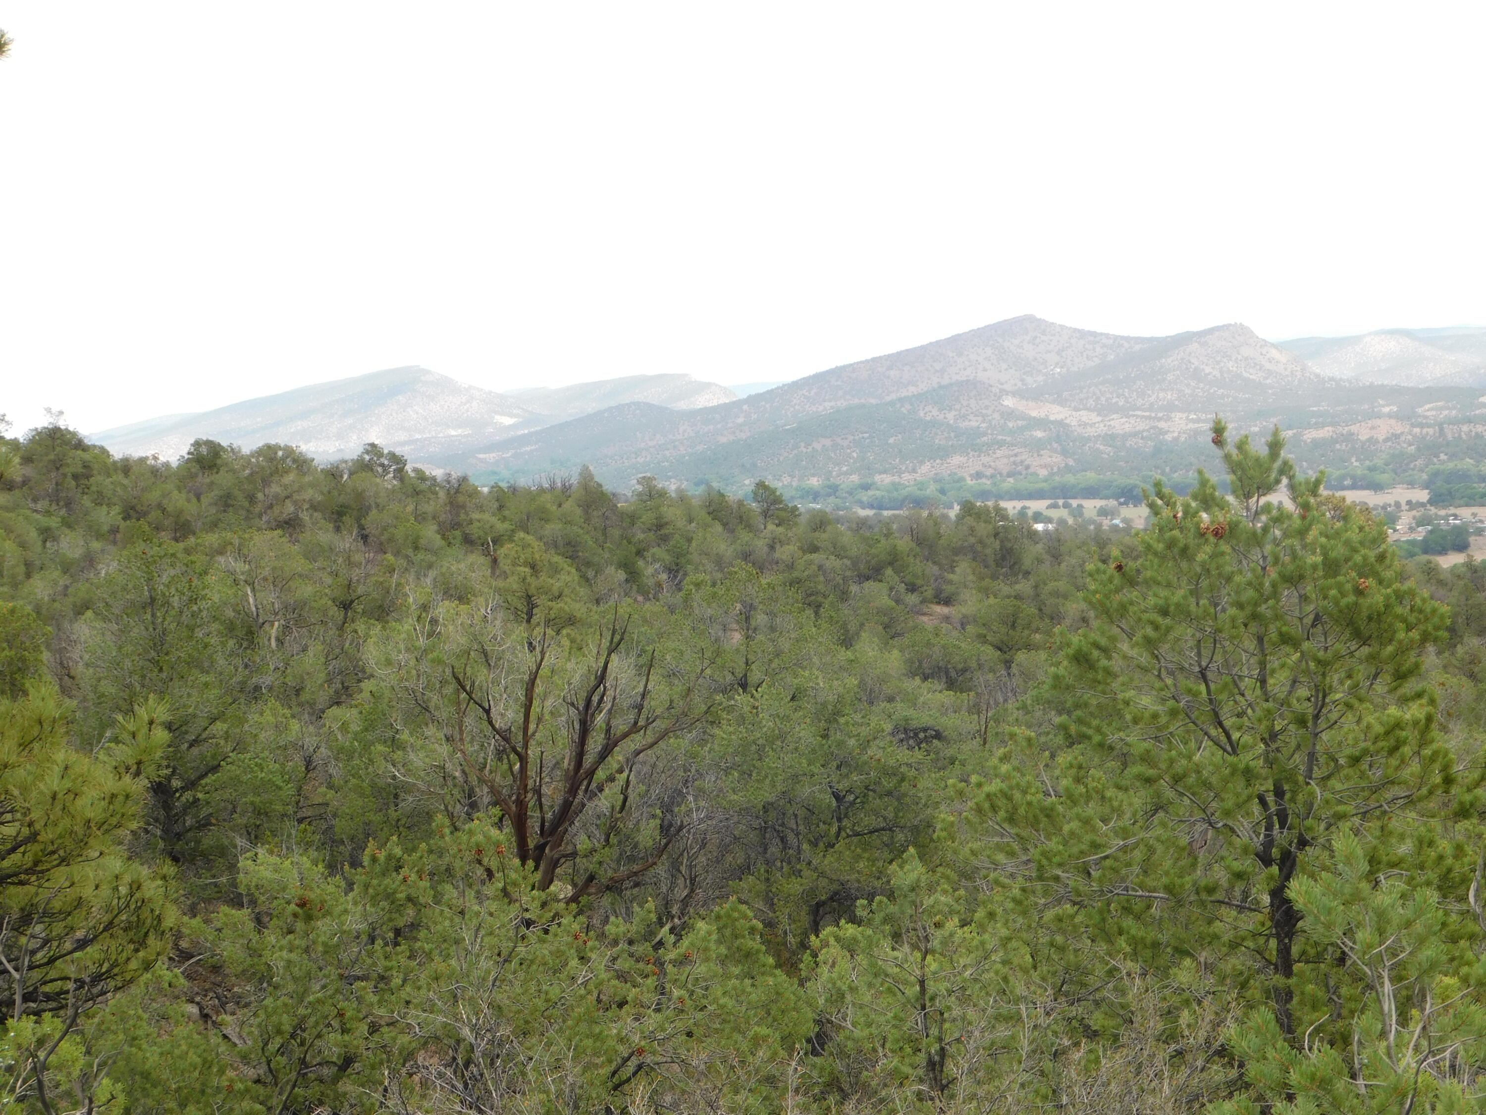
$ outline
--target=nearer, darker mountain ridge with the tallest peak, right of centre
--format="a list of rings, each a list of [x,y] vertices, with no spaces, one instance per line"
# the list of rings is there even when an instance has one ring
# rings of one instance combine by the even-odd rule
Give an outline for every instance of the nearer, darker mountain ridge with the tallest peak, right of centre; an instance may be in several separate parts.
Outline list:
[[[511,431],[458,467],[487,480],[593,467],[627,485],[912,483],[1097,473],[1167,476],[1210,464],[1207,428],[1296,431],[1303,464],[1372,459],[1486,433],[1479,392],[1327,375],[1241,324],[1132,337],[1019,317],[819,372],[691,412],[630,403]],[[1480,430],[1474,427],[1480,425]]]

